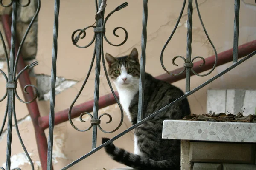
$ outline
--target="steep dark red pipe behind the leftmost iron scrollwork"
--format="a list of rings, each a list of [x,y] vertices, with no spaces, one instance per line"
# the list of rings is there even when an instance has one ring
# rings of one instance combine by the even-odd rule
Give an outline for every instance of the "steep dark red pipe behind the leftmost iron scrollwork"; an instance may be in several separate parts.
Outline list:
[[[11,26],[10,26],[11,18],[9,15],[5,14],[5,15],[1,16],[1,21],[2,21],[3,29],[4,29],[4,32],[6,35],[6,40],[9,45],[9,48],[10,48],[11,47],[11,36],[12,36]],[[19,48],[19,44],[16,43],[15,44],[16,54],[17,54],[18,48]],[[19,60],[17,63],[17,73],[19,73],[25,66],[26,65],[23,61],[23,57],[20,54],[20,57],[19,57]],[[29,74],[27,71],[24,71],[23,74],[20,75],[19,82],[20,82],[20,88],[21,88],[22,92],[23,92],[23,88],[25,87],[25,85],[31,84],[31,81],[29,79]],[[28,87],[27,92],[29,94],[25,94],[23,92],[23,96],[24,96],[25,101],[30,101],[34,98],[33,88]],[[40,118],[38,104],[36,101],[34,101],[32,103],[26,104],[26,106],[28,108],[29,114],[30,114],[32,122],[33,122],[34,129],[35,129],[35,139],[36,139],[36,143],[37,143],[37,147],[38,147],[38,154],[39,154],[39,158],[41,161],[41,167],[42,167],[42,170],[46,170],[47,169],[47,140],[46,140],[44,130],[41,129],[38,124],[38,118]]]

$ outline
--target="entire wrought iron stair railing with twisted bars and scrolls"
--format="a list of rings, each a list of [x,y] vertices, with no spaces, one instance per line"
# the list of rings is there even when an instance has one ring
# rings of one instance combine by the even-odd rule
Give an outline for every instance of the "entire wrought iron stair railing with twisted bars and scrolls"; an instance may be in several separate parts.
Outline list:
[[[0,32],[0,38],[3,42],[3,47],[4,47],[4,51],[6,54],[6,64],[7,64],[7,71],[8,74],[6,74],[4,71],[2,71],[0,69],[1,74],[3,74],[4,78],[6,79],[6,93],[4,94],[4,96],[0,99],[0,102],[3,101],[6,97],[7,97],[7,104],[6,104],[6,112],[4,115],[4,119],[3,119],[3,125],[0,129],[0,135],[3,132],[3,128],[5,125],[5,122],[7,120],[8,117],[8,123],[7,123],[7,149],[6,149],[6,167],[0,167],[0,169],[2,170],[10,170],[11,168],[11,161],[10,161],[10,156],[11,156],[11,143],[12,143],[12,116],[14,118],[14,122],[15,122],[15,127],[17,130],[17,135],[20,139],[20,143],[23,147],[24,152],[26,153],[26,156],[29,159],[29,162],[31,164],[31,169],[34,170],[34,166],[32,163],[32,160],[30,159],[30,156],[26,150],[26,147],[23,144],[23,141],[21,139],[20,133],[19,133],[19,129],[18,129],[18,125],[17,125],[17,119],[16,119],[16,112],[15,112],[15,96],[17,97],[17,99],[19,99],[21,102],[29,104],[33,101],[35,101],[35,99],[37,98],[38,95],[38,91],[37,88],[34,85],[26,85],[24,88],[24,91],[27,92],[26,90],[29,88],[34,88],[34,97],[32,97],[32,99],[30,101],[23,101],[22,99],[20,99],[20,97],[17,94],[16,88],[17,88],[17,80],[20,77],[20,75],[26,71],[29,68],[34,67],[35,65],[38,64],[38,62],[33,62],[30,65],[27,65],[25,68],[23,68],[19,73],[17,73],[17,63],[19,60],[19,54],[21,51],[21,48],[23,46],[23,43],[26,39],[26,35],[28,34],[32,24],[35,21],[35,18],[38,16],[38,12],[40,10],[40,5],[41,5],[41,1],[38,1],[38,8],[37,11],[31,21],[31,23],[29,24],[29,27],[26,30],[26,33],[23,37],[23,39],[20,42],[19,48],[17,50],[17,54],[15,53],[15,45],[16,45],[16,18],[17,18],[17,6],[22,6],[22,7],[26,7],[30,4],[30,0],[28,0],[27,4],[21,4],[19,0],[10,0],[9,4],[3,4],[3,0],[0,0],[0,4],[3,7],[9,7],[12,6],[12,36],[11,36],[11,52],[10,52],[10,59],[7,55],[7,51],[6,51],[6,46],[5,43],[3,41],[3,36],[2,33]],[[239,8],[240,8],[240,0],[235,0],[235,20],[234,20],[234,42],[233,42],[233,65],[231,65],[229,68],[227,68],[226,70],[222,71],[221,73],[219,73],[218,75],[212,77],[211,79],[207,80],[206,82],[204,82],[203,84],[199,85],[198,87],[190,90],[190,77],[191,77],[191,72],[197,76],[207,76],[209,75],[216,67],[217,65],[217,52],[215,50],[215,47],[213,45],[213,43],[211,42],[209,35],[207,34],[206,28],[204,26],[204,23],[201,19],[201,15],[200,15],[200,11],[198,8],[198,2],[197,0],[195,0],[195,6],[198,12],[198,17],[200,19],[201,25],[204,29],[204,32],[210,42],[210,44],[212,45],[212,48],[215,52],[215,62],[213,67],[210,69],[210,71],[206,74],[198,74],[195,72],[194,68],[193,68],[193,61],[195,59],[202,59],[202,64],[200,65],[201,67],[204,67],[206,61],[203,57],[197,56],[197,57],[193,57],[191,56],[192,53],[192,14],[193,14],[193,3],[192,0],[188,0],[188,20],[187,20],[187,49],[186,49],[186,59],[182,56],[176,56],[173,58],[172,63],[173,65],[177,66],[177,64],[175,64],[175,59],[177,58],[181,58],[184,60],[184,68],[179,72],[179,73],[170,73],[168,71],[168,69],[164,66],[163,64],[163,54],[164,51],[166,49],[166,46],[168,45],[169,41],[172,39],[172,36],[175,34],[175,30],[178,26],[178,23],[180,22],[181,16],[183,14],[185,5],[186,5],[186,0],[183,1],[183,6],[180,12],[180,15],[178,17],[177,23],[175,25],[175,28],[172,31],[172,34],[170,35],[169,39],[167,40],[166,44],[163,47],[163,50],[160,54],[160,62],[161,65],[163,67],[163,69],[170,75],[172,76],[177,76],[180,74],[183,74],[184,72],[186,73],[186,94],[181,96],[180,98],[176,99],[174,102],[170,103],[169,105],[166,105],[165,107],[161,108],[159,111],[156,111],[155,113],[151,114],[151,116],[142,117],[142,113],[143,113],[143,96],[144,96],[144,82],[145,82],[145,78],[144,78],[144,74],[145,74],[145,60],[146,60],[146,42],[147,42],[147,19],[148,19],[148,0],[143,0],[143,20],[142,20],[142,24],[143,24],[143,29],[142,29],[142,38],[141,38],[141,50],[142,50],[142,55],[141,55],[141,59],[140,59],[140,88],[139,88],[139,106],[138,106],[138,121],[137,124],[129,127],[128,129],[126,129],[125,131],[123,131],[122,133],[116,135],[115,137],[113,137],[111,140],[109,140],[108,142],[105,142],[104,144],[101,144],[99,146],[97,146],[96,144],[96,138],[97,138],[97,130],[99,128],[99,130],[101,130],[104,133],[113,133],[116,130],[119,129],[119,127],[122,125],[123,122],[123,111],[122,111],[122,106],[119,103],[118,97],[116,96],[116,94],[113,91],[113,88],[111,86],[110,80],[108,78],[108,74],[107,74],[107,70],[106,70],[106,66],[105,66],[105,59],[104,59],[104,51],[103,51],[103,39],[108,42],[108,44],[113,45],[113,46],[120,46],[123,45],[126,40],[128,39],[128,32],[126,31],[125,28],[122,27],[116,27],[113,30],[113,34],[118,37],[118,35],[116,34],[116,30],[117,29],[122,29],[125,32],[125,40],[123,40],[122,43],[120,44],[113,44],[111,43],[106,35],[105,35],[105,24],[108,20],[109,17],[111,17],[111,15],[113,13],[115,13],[116,11],[121,10],[122,8],[125,8],[126,6],[128,6],[128,3],[123,3],[120,6],[116,7],[113,11],[111,11],[107,17],[105,17],[104,19],[104,15],[105,15],[105,7],[106,7],[106,0],[95,0],[95,4],[96,4],[96,23],[94,23],[91,26],[87,26],[83,29],[77,29],[76,31],[73,32],[72,34],[72,42],[73,45],[76,45],[79,48],[87,48],[90,45],[93,44],[93,42],[95,42],[95,46],[94,46],[94,51],[93,51],[93,57],[92,57],[92,61],[91,61],[91,65],[90,68],[88,70],[87,73],[87,77],[84,80],[84,83],[79,91],[79,93],[77,94],[76,98],[74,99],[74,101],[72,102],[71,106],[70,106],[70,110],[69,110],[69,114],[68,114],[68,118],[70,121],[70,124],[78,131],[88,131],[91,128],[93,128],[93,136],[92,136],[92,150],[85,154],[84,156],[81,156],[79,159],[77,159],[76,161],[73,161],[72,163],[68,164],[66,167],[62,168],[62,170],[66,170],[70,167],[72,167],[74,164],[77,164],[78,162],[80,162],[81,160],[87,158],[88,156],[92,155],[93,153],[95,153],[96,151],[98,151],[99,149],[101,149],[102,147],[106,146],[107,144],[109,144],[110,142],[113,142],[114,140],[118,139],[119,137],[123,136],[124,134],[128,133],[129,131],[133,130],[134,128],[138,127],[139,125],[143,124],[144,122],[148,121],[149,119],[151,119],[152,117],[154,117],[157,114],[160,114],[161,111],[165,110],[166,108],[171,107],[172,105],[174,105],[176,102],[179,102],[183,99],[185,99],[187,96],[195,93],[196,91],[198,91],[199,89],[201,89],[202,87],[204,87],[205,85],[209,84],[210,82],[214,81],[215,79],[217,79],[218,77],[221,77],[223,74],[227,73],[228,71],[230,71],[231,69],[235,68],[237,65],[241,64],[242,62],[246,61],[247,59],[249,59],[250,57],[252,57],[253,55],[256,54],[256,51],[253,51],[252,53],[250,53],[249,55],[247,55],[246,57],[244,57],[243,59],[238,61],[238,37],[239,37]],[[54,27],[53,27],[53,47],[52,47],[52,74],[51,74],[51,97],[50,97],[50,114],[49,114],[49,140],[48,140],[48,153],[47,153],[47,170],[52,170],[52,149],[53,149],[53,129],[54,129],[54,125],[55,125],[55,112],[54,112],[54,106],[55,106],[55,81],[56,81],[56,59],[57,59],[57,50],[58,50],[58,15],[59,15],[59,8],[60,8],[60,0],[55,0],[55,15],[54,15]],[[89,42],[89,44],[85,45],[85,46],[81,46],[78,45],[77,43],[79,42],[79,39],[83,39],[86,36],[86,32],[87,29],[89,28],[93,28],[94,31],[94,36],[93,39]],[[15,55],[16,54],[16,55]],[[17,57],[15,57],[17,56]],[[96,67],[95,67],[95,89],[94,89],[94,103],[93,103],[93,115],[88,113],[88,112],[84,112],[80,114],[80,121],[81,122],[85,122],[82,119],[82,116],[84,115],[88,115],[90,116],[91,120],[90,120],[90,126],[87,129],[84,130],[80,130],[79,128],[77,128],[73,122],[72,122],[72,108],[73,105],[75,104],[76,100],[78,99],[79,95],[81,94],[81,91],[84,89],[84,86],[86,85],[86,82],[88,80],[88,77],[90,75],[90,72],[92,70],[93,67],[93,63],[94,60],[96,60]],[[101,127],[101,117],[102,116],[108,116],[109,117],[109,121],[107,123],[110,123],[112,121],[112,117],[110,114],[105,113],[102,115],[98,115],[99,112],[99,72],[101,69],[101,60],[102,60],[102,64],[103,64],[103,69],[105,71],[105,75],[109,84],[109,87],[112,91],[112,94],[114,96],[114,98],[116,99],[116,102],[119,105],[119,108],[121,110],[121,120],[119,122],[119,125],[112,131],[106,131],[103,130]],[[16,75],[17,74],[17,75]],[[30,89],[30,92],[31,89]],[[46,167],[43,167],[46,168]],[[13,170],[20,170],[20,168],[15,168]]]

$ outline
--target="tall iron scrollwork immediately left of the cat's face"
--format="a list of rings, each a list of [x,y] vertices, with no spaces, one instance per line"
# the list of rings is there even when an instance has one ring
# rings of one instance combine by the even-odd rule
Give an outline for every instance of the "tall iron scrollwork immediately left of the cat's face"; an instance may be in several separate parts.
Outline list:
[[[103,38],[105,39],[106,42],[108,42],[108,44],[112,45],[112,46],[121,46],[123,45],[127,39],[128,39],[128,32],[126,31],[125,28],[123,27],[116,27],[114,30],[113,30],[113,34],[114,36],[116,37],[119,37],[117,34],[116,34],[116,30],[118,29],[122,29],[124,32],[125,32],[125,40],[123,40],[120,44],[113,44],[111,43],[106,35],[105,35],[105,31],[106,31],[106,28],[105,28],[105,25],[106,25],[106,22],[108,20],[108,18],[113,14],[115,13],[116,11],[119,11],[121,10],[122,8],[125,8],[126,6],[128,6],[128,3],[125,2],[123,4],[121,4],[120,6],[118,6],[117,8],[115,8],[113,11],[111,11],[107,17],[105,18],[104,20],[104,12],[105,12],[105,4],[106,4],[106,0],[99,0],[99,10],[98,10],[98,6],[97,6],[97,0],[96,0],[96,26],[95,26],[95,23],[91,26],[87,26],[83,29],[77,29],[73,32],[72,36],[71,36],[71,39],[72,39],[72,43],[73,45],[75,45],[76,47],[79,47],[79,48],[87,48],[89,47],[90,45],[93,44],[93,42],[95,42],[95,46],[94,46],[94,51],[93,51],[93,57],[92,57],[92,60],[91,60],[91,64],[90,64],[90,68],[88,70],[88,73],[87,73],[87,76],[86,78],[84,79],[84,82],[83,82],[83,85],[79,91],[79,93],[77,94],[76,98],[74,99],[74,101],[72,102],[71,106],[70,106],[70,109],[69,109],[69,114],[68,114],[68,118],[69,118],[69,121],[70,121],[70,124],[73,126],[73,128],[75,128],[76,130],[80,131],[80,132],[84,132],[84,131],[87,131],[87,130],[90,130],[92,127],[93,127],[93,148],[96,147],[96,131],[97,131],[97,128],[99,128],[102,132],[105,132],[105,133],[113,133],[115,132],[116,130],[119,129],[119,127],[122,125],[122,122],[123,122],[123,110],[122,110],[122,106],[120,105],[119,103],[119,100],[116,96],[116,94],[114,93],[114,90],[112,88],[112,85],[111,85],[111,82],[110,82],[110,79],[108,77],[108,73],[107,73],[107,69],[106,69],[106,65],[105,65],[105,59],[104,59],[104,52],[103,52]],[[100,14],[99,14],[100,13]],[[93,28],[94,30],[94,35],[93,35],[93,39],[85,46],[81,46],[81,45],[78,45],[77,42],[79,41],[79,39],[83,39],[84,37],[86,37],[86,30],[88,28]],[[80,32],[79,32],[80,31]],[[76,35],[77,33],[79,32],[78,35]],[[75,36],[76,35],[76,36]],[[84,113],[81,113],[81,115],[79,116],[79,119],[81,122],[85,122],[82,117],[84,115],[88,115],[90,116],[91,120],[90,120],[90,127],[88,127],[87,129],[84,129],[84,130],[80,130],[79,128],[77,128],[73,122],[72,122],[72,116],[71,116],[71,112],[72,112],[72,108],[73,108],[73,105],[75,104],[76,100],[78,99],[79,95],[81,94],[81,92],[83,91],[84,89],[84,86],[89,78],[89,75],[91,73],[91,70],[92,70],[92,67],[93,67],[93,63],[94,63],[94,60],[96,58],[96,68],[95,68],[95,91],[94,91],[94,106],[93,106],[93,115],[91,113],[87,113],[87,112],[84,112]],[[105,72],[105,75],[106,75],[106,78],[107,78],[107,81],[108,81],[108,85],[111,89],[111,92],[113,94],[113,96],[115,97],[116,101],[117,101],[117,104],[119,105],[119,108],[120,108],[120,111],[121,111],[121,120],[119,122],[119,125],[112,131],[105,131],[102,129],[102,127],[100,126],[100,123],[101,123],[101,117],[102,116],[108,116],[109,117],[109,121],[106,122],[106,123],[110,123],[112,122],[112,117],[110,114],[108,113],[104,113],[100,116],[98,116],[98,111],[99,111],[99,106],[98,106],[98,102],[99,102],[99,72],[100,72],[100,62],[101,62],[101,59],[102,59],[102,64],[103,64],[103,68],[104,68],[104,72]]]

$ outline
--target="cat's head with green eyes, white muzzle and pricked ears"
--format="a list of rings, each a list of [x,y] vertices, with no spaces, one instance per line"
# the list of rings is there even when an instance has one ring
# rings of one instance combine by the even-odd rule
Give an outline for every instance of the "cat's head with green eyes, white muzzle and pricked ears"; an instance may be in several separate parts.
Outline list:
[[[128,56],[113,57],[106,53],[108,75],[118,87],[137,86],[140,79],[138,51],[133,48]]]

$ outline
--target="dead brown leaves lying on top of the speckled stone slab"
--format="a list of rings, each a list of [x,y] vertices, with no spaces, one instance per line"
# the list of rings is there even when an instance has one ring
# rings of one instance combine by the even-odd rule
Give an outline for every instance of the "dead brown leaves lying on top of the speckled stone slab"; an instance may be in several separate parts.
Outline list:
[[[182,120],[195,120],[195,121],[209,121],[209,122],[252,122],[256,123],[256,116],[244,116],[243,113],[225,114],[225,113],[209,113],[209,114],[190,114],[185,116]]]

